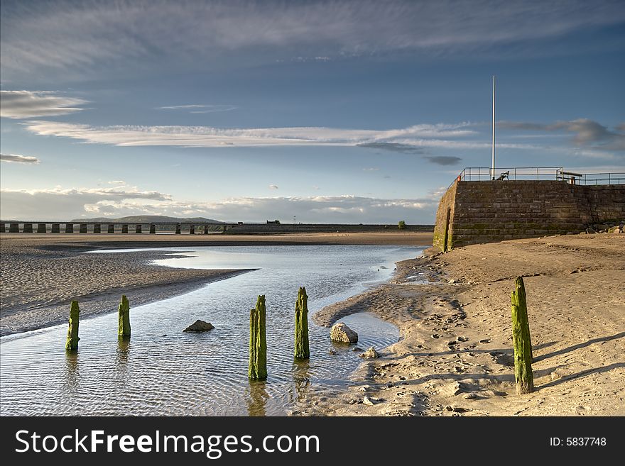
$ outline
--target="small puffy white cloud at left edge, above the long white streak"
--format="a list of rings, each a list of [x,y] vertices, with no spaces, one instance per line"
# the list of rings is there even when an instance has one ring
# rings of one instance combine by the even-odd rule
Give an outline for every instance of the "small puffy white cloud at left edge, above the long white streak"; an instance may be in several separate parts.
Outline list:
[[[0,91],[0,116],[33,118],[35,116],[67,115],[80,111],[87,101],[48,91]]]

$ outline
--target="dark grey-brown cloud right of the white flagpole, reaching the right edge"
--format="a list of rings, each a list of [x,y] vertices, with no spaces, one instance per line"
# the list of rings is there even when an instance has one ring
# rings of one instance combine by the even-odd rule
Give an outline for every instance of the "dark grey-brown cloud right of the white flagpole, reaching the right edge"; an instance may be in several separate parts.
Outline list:
[[[578,118],[571,121],[556,121],[555,123],[527,123],[518,121],[500,121],[499,128],[518,129],[527,131],[548,131],[574,133],[573,142],[599,150],[625,150],[625,130],[623,125],[617,126],[614,131],[589,118]]]

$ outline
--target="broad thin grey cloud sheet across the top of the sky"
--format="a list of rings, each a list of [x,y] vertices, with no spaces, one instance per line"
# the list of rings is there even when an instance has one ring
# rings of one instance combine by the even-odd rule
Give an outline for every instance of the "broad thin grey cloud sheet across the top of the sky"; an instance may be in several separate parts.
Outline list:
[[[480,14],[475,14],[479,11]],[[163,59],[210,64],[232,55],[323,61],[392,51],[450,53],[558,38],[624,21],[619,1],[433,2],[121,0],[2,2],[1,65],[112,70]],[[372,33],[373,31],[373,33]],[[536,50],[536,47],[533,48]]]

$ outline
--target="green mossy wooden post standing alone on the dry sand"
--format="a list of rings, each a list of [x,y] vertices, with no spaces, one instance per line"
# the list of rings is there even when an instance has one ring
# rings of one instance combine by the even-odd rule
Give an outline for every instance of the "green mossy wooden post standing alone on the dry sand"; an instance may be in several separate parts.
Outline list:
[[[512,343],[514,346],[514,378],[516,394],[534,391],[532,372],[532,342],[527,314],[525,285],[522,277],[516,277],[512,292]]]

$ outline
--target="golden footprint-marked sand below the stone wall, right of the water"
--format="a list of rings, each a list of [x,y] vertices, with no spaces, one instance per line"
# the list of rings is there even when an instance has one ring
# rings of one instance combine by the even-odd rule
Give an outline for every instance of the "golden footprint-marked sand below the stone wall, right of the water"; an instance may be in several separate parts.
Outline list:
[[[396,324],[401,340],[377,348],[381,358],[363,362],[347,391],[315,392],[292,414],[625,415],[625,235],[428,253],[399,262],[393,282],[313,316],[330,326],[371,311]],[[521,396],[510,311],[517,275],[528,294],[536,387]]]

